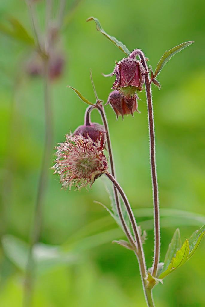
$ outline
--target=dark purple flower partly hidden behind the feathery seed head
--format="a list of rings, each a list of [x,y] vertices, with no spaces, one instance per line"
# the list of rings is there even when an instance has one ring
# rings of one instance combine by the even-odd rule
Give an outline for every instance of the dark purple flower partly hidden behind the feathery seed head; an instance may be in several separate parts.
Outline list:
[[[79,126],[74,132],[73,136],[79,134],[84,138],[88,138],[88,136],[93,140],[93,142],[97,142],[97,140],[101,137],[100,149],[102,150],[105,143],[105,129],[102,125],[97,122],[93,122],[90,125],[82,125]]]

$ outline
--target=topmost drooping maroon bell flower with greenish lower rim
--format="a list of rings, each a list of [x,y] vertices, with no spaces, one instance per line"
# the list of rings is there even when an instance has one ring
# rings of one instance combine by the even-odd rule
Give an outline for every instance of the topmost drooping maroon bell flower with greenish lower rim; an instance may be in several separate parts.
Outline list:
[[[132,57],[122,59],[116,62],[114,71],[105,77],[116,75],[116,80],[112,89],[120,91],[125,97],[132,97],[137,90],[141,91],[145,81],[146,70],[141,61]]]

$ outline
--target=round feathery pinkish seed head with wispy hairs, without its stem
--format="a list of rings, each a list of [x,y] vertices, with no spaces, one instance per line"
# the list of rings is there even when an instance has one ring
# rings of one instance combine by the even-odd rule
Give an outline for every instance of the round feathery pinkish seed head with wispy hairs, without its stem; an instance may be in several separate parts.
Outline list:
[[[101,139],[93,142],[77,134],[66,135],[66,141],[56,147],[54,173],[60,175],[62,188],[75,185],[77,188],[90,186],[100,175],[106,172],[108,165],[100,148]]]

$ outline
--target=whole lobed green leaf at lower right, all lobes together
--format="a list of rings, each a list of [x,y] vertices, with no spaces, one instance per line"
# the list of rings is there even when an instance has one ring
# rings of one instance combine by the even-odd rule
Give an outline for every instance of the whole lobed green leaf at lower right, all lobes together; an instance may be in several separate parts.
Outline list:
[[[177,234],[177,232],[175,231],[175,239],[173,240],[173,242],[171,242],[171,246],[172,248],[169,246],[168,251],[170,250],[170,254],[169,256],[166,255],[165,257],[165,261],[166,261],[166,266],[164,263],[164,269],[163,272],[160,274],[159,278],[164,278],[166,277],[168,274],[170,274],[171,272],[173,272],[174,270],[176,270],[176,268],[182,266],[185,262],[188,261],[188,259],[191,258],[191,256],[195,253],[197,247],[199,246],[199,243],[201,242],[201,239],[203,237],[203,235],[205,234],[205,225],[202,226],[199,230],[195,231],[191,237],[188,239],[186,239],[186,241],[184,242],[184,244],[182,245],[182,247],[180,248],[180,250],[178,250],[176,252],[176,256],[174,256],[170,262],[170,264],[167,266],[168,263],[168,259],[170,258],[171,254],[174,253],[174,249],[176,248],[176,245],[180,244],[180,239],[179,239],[179,234]],[[175,244],[174,244],[175,242]]]

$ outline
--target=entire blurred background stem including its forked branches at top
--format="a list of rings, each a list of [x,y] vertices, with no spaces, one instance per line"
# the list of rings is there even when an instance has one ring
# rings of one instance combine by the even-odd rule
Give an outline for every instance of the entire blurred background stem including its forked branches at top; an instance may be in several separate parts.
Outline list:
[[[38,22],[36,14],[33,8],[33,4],[27,1],[28,9],[31,16],[33,25],[33,31],[35,34],[36,44],[39,49],[39,53],[42,56],[44,65],[44,115],[45,115],[45,142],[44,152],[41,162],[41,172],[38,181],[37,199],[34,208],[33,223],[30,234],[30,247],[28,254],[28,261],[25,271],[24,281],[24,295],[23,295],[23,306],[32,306],[32,296],[34,288],[34,277],[35,277],[35,259],[33,258],[33,247],[35,243],[39,241],[42,222],[43,222],[43,205],[46,188],[48,184],[48,173],[50,167],[50,158],[52,152],[52,140],[53,140],[53,123],[52,123],[52,105],[51,105],[51,89],[49,79],[49,53],[48,53],[48,41],[47,35],[45,37],[45,47],[41,45],[41,34],[38,29]],[[48,31],[49,21],[52,18],[52,1],[46,2],[46,32]],[[45,53],[46,50],[46,53]]]

